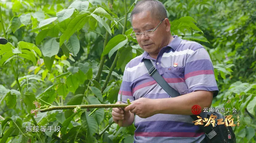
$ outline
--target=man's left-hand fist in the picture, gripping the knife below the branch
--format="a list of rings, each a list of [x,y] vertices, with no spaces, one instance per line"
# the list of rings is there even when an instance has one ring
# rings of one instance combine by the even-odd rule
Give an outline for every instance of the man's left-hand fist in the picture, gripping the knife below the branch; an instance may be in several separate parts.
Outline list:
[[[120,101],[116,102],[116,104],[121,104]],[[118,120],[124,120],[123,126],[130,126],[132,122],[134,121],[134,116],[131,122],[131,112],[130,111],[123,111],[121,107],[119,108],[113,108],[112,109],[112,117],[115,123],[118,124]],[[131,123],[130,123],[131,122]],[[119,125],[120,126],[120,125]]]

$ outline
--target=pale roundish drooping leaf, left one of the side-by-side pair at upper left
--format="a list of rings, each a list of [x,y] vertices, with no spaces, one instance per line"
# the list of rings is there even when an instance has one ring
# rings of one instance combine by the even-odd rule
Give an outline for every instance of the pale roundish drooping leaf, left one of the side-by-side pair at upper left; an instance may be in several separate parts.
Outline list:
[[[56,38],[51,38],[43,43],[42,52],[43,56],[52,57],[58,54],[60,44],[56,41]]]

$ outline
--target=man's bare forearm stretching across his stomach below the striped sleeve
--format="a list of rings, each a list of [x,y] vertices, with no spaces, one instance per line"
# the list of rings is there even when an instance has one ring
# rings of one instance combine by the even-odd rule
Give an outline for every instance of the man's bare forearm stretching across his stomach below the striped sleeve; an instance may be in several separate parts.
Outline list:
[[[195,104],[201,108],[210,107],[213,93],[207,91],[195,91],[174,98],[163,98],[155,100],[155,113],[193,115],[191,107]]]

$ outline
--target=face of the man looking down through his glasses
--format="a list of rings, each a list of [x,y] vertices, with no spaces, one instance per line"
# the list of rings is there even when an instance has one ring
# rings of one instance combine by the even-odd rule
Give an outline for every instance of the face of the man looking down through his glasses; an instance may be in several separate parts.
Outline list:
[[[154,30],[160,22],[161,21],[151,16],[150,11],[134,14],[132,17],[132,27],[135,33]],[[141,38],[136,40],[140,47],[150,55],[158,55],[167,37],[165,29],[164,21],[162,21],[159,27],[154,31],[154,35],[145,37],[142,34]]]

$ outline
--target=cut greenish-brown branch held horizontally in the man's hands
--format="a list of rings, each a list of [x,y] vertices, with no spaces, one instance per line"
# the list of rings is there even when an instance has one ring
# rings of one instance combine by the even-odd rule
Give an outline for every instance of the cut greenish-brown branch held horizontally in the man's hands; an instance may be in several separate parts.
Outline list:
[[[68,106],[53,106],[46,109],[39,110],[40,112],[47,112],[52,110],[64,110],[64,109],[74,109],[77,106],[80,106],[81,109],[89,108],[117,108],[117,107],[126,107],[128,104],[91,104],[91,105],[68,105]]]

